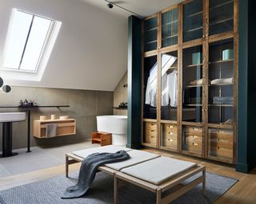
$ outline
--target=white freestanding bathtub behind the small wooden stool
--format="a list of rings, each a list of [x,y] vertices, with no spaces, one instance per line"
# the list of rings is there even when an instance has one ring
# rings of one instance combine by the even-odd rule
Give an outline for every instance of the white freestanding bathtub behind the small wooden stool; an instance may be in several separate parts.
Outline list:
[[[96,116],[97,130],[112,134],[112,144],[125,146],[127,143],[127,116]]]

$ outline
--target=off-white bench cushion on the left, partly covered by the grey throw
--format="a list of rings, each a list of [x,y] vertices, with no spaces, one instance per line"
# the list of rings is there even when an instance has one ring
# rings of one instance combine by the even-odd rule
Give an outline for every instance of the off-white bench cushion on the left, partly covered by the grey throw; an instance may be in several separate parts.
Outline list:
[[[91,155],[94,153],[102,153],[102,152],[114,153],[120,150],[131,151],[132,149],[122,147],[122,146],[117,146],[117,145],[107,145],[103,147],[94,147],[94,148],[80,150],[80,151],[73,151],[72,153],[79,157],[86,158],[88,155]]]

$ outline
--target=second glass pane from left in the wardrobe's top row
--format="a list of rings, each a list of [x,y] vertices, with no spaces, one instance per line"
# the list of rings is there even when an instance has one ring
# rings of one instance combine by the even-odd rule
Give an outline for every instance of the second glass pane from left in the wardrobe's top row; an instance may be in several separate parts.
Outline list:
[[[162,47],[178,43],[178,8],[162,14]]]

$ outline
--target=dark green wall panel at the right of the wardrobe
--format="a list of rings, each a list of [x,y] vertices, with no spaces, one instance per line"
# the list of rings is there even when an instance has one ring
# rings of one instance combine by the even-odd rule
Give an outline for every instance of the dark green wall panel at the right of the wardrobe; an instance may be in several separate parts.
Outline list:
[[[238,74],[238,162],[237,171],[249,172],[256,166],[256,28],[255,1],[239,0]]]

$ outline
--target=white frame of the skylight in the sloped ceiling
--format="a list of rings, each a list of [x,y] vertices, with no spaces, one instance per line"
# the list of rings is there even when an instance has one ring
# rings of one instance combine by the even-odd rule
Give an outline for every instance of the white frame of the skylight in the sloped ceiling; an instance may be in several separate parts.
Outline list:
[[[33,19],[34,17],[38,17],[38,18],[44,18],[44,19],[47,19],[50,21],[50,26],[49,26],[49,29],[47,31],[47,34],[46,34],[46,37],[45,37],[45,40],[43,42],[43,45],[42,45],[42,49],[40,51],[40,54],[39,54],[39,57],[38,57],[38,62],[37,62],[37,65],[35,66],[35,69],[34,70],[26,70],[26,69],[20,69],[21,65],[22,65],[22,57],[24,57],[24,53],[26,51],[26,44],[27,44],[27,41],[29,40],[29,35],[30,35],[30,30],[32,28],[32,25],[33,25],[33,20],[31,21],[31,24],[30,24],[30,30],[27,34],[27,37],[26,37],[26,44],[24,45],[23,47],[23,51],[22,51],[22,57],[21,57],[21,61],[18,65],[18,69],[14,69],[14,68],[8,68],[8,67],[4,67],[3,64],[4,64],[4,59],[6,57],[6,49],[7,49],[7,45],[10,41],[10,32],[11,32],[11,26],[13,25],[13,21],[14,21],[14,14],[16,11],[19,11],[19,12],[22,12],[22,13],[25,13],[25,14],[30,14],[33,16]],[[11,18],[10,18],[10,24],[9,24],[9,27],[8,27],[8,32],[7,32],[7,37],[6,37],[6,45],[5,45],[5,49],[3,51],[3,57],[2,57],[2,61],[1,61],[1,65],[2,65],[2,71],[6,71],[6,72],[10,72],[10,73],[28,73],[28,74],[37,74],[40,67],[42,66],[42,61],[44,60],[44,57],[46,56],[46,51],[48,49],[48,45],[50,44],[50,41],[51,41],[51,37],[52,35],[54,34],[54,29],[55,29],[55,26],[57,25],[57,21],[51,19],[51,18],[46,18],[44,16],[41,16],[41,15],[38,15],[38,14],[33,14],[33,13],[30,13],[30,12],[27,12],[27,11],[24,11],[24,10],[19,10],[19,9],[16,9],[14,8],[12,10],[12,14],[11,14]]]

